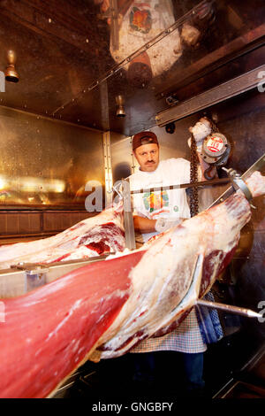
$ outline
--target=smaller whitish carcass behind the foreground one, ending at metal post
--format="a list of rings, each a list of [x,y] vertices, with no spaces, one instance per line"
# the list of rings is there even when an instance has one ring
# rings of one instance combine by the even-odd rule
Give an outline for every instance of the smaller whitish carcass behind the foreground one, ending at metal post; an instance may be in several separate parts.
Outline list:
[[[51,263],[90,258],[125,249],[122,204],[82,220],[63,233],[0,247],[0,269],[18,263]]]

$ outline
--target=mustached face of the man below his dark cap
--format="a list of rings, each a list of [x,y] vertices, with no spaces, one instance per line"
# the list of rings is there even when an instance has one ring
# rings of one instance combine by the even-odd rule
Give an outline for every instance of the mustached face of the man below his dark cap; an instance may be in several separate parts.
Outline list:
[[[134,150],[140,170],[143,172],[153,172],[159,164],[159,147],[156,143],[142,144]]]

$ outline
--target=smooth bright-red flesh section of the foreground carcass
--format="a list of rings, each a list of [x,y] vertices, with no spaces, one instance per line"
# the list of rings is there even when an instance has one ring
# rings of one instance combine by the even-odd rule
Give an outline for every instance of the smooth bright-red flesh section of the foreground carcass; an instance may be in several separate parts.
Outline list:
[[[22,297],[4,299],[0,322],[0,397],[47,397],[86,361],[129,296],[136,253],[97,262]],[[120,273],[121,269],[123,273]],[[88,272],[88,273],[87,273]]]

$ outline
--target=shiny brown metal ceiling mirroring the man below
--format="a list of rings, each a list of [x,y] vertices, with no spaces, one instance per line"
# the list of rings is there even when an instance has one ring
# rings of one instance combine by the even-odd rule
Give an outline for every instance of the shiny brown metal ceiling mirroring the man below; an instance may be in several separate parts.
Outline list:
[[[258,64],[261,57],[242,58],[222,72],[225,60],[261,41],[264,7],[261,0],[2,1],[0,65],[4,72],[14,50],[19,82],[5,83],[0,104],[133,135],[155,126],[157,112]]]

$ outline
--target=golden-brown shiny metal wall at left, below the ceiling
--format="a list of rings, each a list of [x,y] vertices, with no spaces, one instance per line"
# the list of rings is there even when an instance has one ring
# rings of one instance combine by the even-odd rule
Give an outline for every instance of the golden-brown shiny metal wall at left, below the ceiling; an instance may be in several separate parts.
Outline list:
[[[78,205],[87,181],[104,183],[102,135],[0,108],[0,209],[9,205]]]

